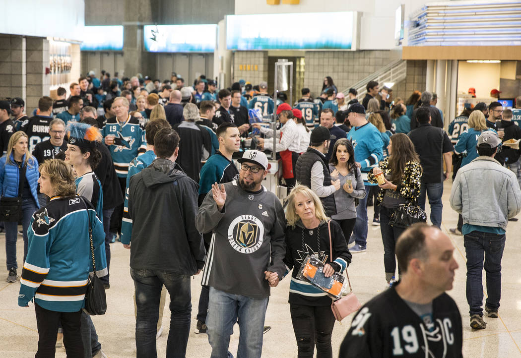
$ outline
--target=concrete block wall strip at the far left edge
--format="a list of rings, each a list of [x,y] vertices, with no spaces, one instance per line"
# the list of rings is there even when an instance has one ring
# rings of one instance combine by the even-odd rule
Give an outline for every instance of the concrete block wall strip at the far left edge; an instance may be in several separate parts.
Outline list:
[[[0,34],[0,99],[26,96],[25,46],[22,36]]]

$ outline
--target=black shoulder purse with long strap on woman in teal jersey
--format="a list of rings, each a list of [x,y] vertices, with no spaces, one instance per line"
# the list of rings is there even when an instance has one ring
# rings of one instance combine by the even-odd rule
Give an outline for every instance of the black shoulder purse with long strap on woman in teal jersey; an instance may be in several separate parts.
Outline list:
[[[94,244],[92,242],[92,225],[89,219],[89,209],[87,208],[87,204],[85,204],[83,198],[81,198],[81,201],[85,205],[85,210],[87,211],[87,217],[89,220],[89,239],[91,242],[92,267],[94,271],[93,277],[89,274],[87,291],[85,292],[84,310],[91,316],[95,316],[105,314],[105,311],[107,311],[107,297],[105,295],[105,287],[103,286],[100,277],[97,277],[96,275],[96,261],[94,260]]]

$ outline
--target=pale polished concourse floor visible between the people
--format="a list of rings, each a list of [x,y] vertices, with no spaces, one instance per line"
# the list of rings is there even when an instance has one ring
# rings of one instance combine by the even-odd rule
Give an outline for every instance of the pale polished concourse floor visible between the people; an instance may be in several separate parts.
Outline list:
[[[451,210],[448,199],[450,183],[445,184],[443,194],[443,225],[445,233],[455,227],[457,214]],[[428,210],[427,210],[428,211]],[[369,209],[372,218],[372,208]],[[521,218],[521,214],[518,215]],[[463,316],[463,355],[465,357],[521,357],[521,221],[508,223],[506,246],[503,254],[502,300],[499,318],[485,318],[487,328],[473,331],[468,326],[468,305],[465,298],[465,248],[463,237],[449,235],[456,250],[454,256],[460,265],[456,271],[454,288],[449,292],[456,301]],[[0,234],[0,247],[4,247],[4,234]],[[369,226],[367,251],[353,255],[349,273],[354,292],[361,302],[366,302],[385,288],[383,274],[383,246],[380,230]],[[18,262],[22,259],[22,239],[18,240]],[[92,320],[100,336],[103,350],[108,357],[135,356],[134,308],[132,303],[133,283],[129,274],[129,251],[116,242],[111,245],[110,289],[107,290],[107,314],[94,316]],[[5,262],[5,250],[0,250],[0,262]],[[33,305],[21,308],[17,305],[19,282],[7,283],[7,271],[0,275],[0,357],[31,357],[36,351],[38,332]],[[296,357],[296,343],[291,325],[288,290],[289,279],[284,279],[271,290],[271,298],[266,314],[266,325],[272,328],[264,336],[264,357]],[[197,311],[200,292],[200,277],[192,280],[192,317]],[[486,293],[486,292],[485,292]],[[168,312],[168,305],[166,306]],[[333,330],[333,356],[338,355],[340,343],[349,329],[352,317],[336,323]],[[157,340],[158,356],[165,356],[168,336],[168,315],[163,318],[163,336]],[[210,346],[206,336],[195,335],[195,318],[188,341],[187,357],[209,357]],[[230,351],[235,355],[239,338],[239,328],[230,343]],[[57,357],[65,357],[65,350],[58,350]]]

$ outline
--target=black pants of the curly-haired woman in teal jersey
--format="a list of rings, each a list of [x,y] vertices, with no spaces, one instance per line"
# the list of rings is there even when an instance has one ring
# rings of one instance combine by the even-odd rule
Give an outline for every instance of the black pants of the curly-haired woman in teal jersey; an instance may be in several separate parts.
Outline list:
[[[81,339],[81,310],[78,312],[56,312],[46,310],[34,303],[36,326],[38,327],[38,351],[36,358],[54,357],[58,323],[64,330],[64,346],[68,357],[84,357]]]

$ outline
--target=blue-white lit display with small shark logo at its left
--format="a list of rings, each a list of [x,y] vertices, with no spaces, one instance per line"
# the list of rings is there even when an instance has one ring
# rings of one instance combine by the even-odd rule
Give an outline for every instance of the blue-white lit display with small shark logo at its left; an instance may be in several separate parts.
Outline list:
[[[148,52],[214,52],[217,25],[145,25],[143,37]]]

